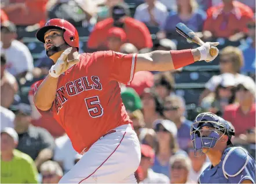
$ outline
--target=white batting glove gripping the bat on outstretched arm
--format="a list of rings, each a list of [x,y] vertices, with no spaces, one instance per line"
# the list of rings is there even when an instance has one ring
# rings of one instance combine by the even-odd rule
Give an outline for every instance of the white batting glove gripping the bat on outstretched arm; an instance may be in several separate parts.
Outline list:
[[[218,42],[206,42],[204,43],[202,46],[198,47],[198,50],[200,51],[200,61],[205,60],[206,62],[211,62],[213,61],[213,59],[215,59],[218,54],[219,54],[219,50],[217,47],[218,46]],[[217,50],[217,54],[214,56],[210,55],[210,48],[215,48]]]

